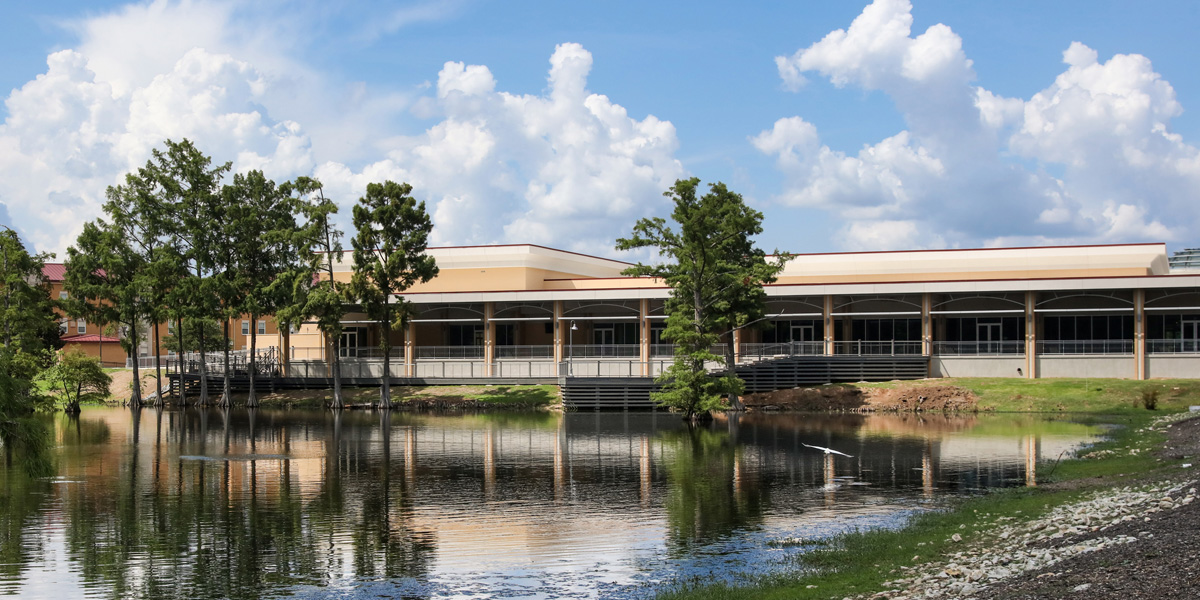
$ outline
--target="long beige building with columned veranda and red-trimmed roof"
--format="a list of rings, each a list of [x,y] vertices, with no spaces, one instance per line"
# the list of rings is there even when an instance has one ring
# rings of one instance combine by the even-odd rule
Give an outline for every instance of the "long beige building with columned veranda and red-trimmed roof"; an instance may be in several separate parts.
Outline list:
[[[440,274],[403,296],[392,376],[653,376],[670,362],[662,281],[630,264],[534,245],[432,248]],[[349,278],[350,263],[335,276]],[[739,362],[924,356],[932,376],[1196,377],[1200,271],[1163,244],[800,254],[767,287],[768,318],[737,331]],[[380,329],[350,307],[341,340],[314,325],[260,338],[289,373],[330,354],[382,374]],[[274,332],[274,328],[271,328]]]

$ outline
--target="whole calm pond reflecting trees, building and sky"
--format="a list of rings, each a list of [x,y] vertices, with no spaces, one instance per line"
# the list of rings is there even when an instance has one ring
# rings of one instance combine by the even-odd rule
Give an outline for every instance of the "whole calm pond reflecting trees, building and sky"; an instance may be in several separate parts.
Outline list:
[[[797,568],[1102,434],[1038,416],[85,409],[0,466],[0,595],[646,598]],[[826,455],[803,444],[853,457]]]

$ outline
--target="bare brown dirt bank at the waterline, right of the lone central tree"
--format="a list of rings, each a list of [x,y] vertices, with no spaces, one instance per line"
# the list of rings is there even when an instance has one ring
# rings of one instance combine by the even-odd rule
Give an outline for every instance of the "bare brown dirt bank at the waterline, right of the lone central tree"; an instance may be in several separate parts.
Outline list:
[[[874,412],[974,412],[979,398],[955,385],[901,384],[893,388],[821,385],[742,397],[754,410]]]

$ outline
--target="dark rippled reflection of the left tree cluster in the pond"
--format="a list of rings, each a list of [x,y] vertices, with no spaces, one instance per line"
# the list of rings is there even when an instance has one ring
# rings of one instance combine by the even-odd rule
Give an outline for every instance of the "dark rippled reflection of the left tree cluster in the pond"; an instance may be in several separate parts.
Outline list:
[[[340,460],[378,430],[356,424],[347,436],[336,420],[324,487],[313,498],[300,492],[292,461],[242,454],[257,437],[241,415],[230,416],[228,427],[211,432],[222,443],[209,445],[228,440],[227,457],[180,457],[161,451],[158,436],[146,436],[140,446],[120,449],[120,460],[106,461],[103,473],[88,473],[86,486],[62,493],[66,552],[92,589],[109,598],[250,599],[328,584],[347,566],[359,577],[427,572],[433,538],[410,526],[410,494],[402,476],[391,476],[388,452]],[[167,443],[196,448],[180,434],[187,421],[172,421]],[[64,437],[74,436],[65,428]],[[272,454],[287,455],[287,427],[272,434]],[[5,527],[18,528],[10,518],[18,514],[17,506],[6,510]],[[348,556],[353,565],[344,564]]]

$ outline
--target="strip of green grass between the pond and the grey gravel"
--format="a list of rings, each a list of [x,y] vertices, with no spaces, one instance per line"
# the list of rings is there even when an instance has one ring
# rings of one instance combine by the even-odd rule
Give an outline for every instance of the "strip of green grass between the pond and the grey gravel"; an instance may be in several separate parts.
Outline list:
[[[959,385],[962,385],[959,380]],[[1037,394],[1037,397],[1061,398],[1070,394],[1070,384],[1054,382]],[[1105,380],[1105,384],[1111,380]],[[1164,382],[1152,382],[1163,384]],[[1165,382],[1175,385],[1175,382]],[[996,388],[1002,388],[997,385]],[[1108,386],[1110,400],[1092,406],[1104,409],[1121,408],[1122,394],[1135,391],[1136,386]],[[1036,386],[1018,386],[1031,390]],[[1198,385],[1192,385],[1196,389]],[[990,390],[995,392],[996,390]],[[1102,392],[1097,392],[1099,396]],[[1177,402],[1200,403],[1196,396],[1177,397]],[[1121,410],[1126,412],[1126,410]],[[960,500],[944,511],[920,514],[911,518],[901,529],[854,532],[835,536],[812,546],[798,557],[797,571],[764,575],[746,586],[689,584],[660,594],[660,599],[841,599],[857,594],[874,594],[887,589],[883,582],[906,576],[906,568],[925,560],[938,559],[965,550],[971,541],[997,524],[998,517],[1015,517],[1018,521],[1037,518],[1054,506],[1072,502],[1090,490],[1108,485],[1126,485],[1127,481],[1154,472],[1177,468],[1176,462],[1160,462],[1152,450],[1160,446],[1165,436],[1159,431],[1147,431],[1146,425],[1162,412],[1144,408],[1129,409],[1129,414],[1117,421],[1122,427],[1088,448],[1096,458],[1075,458],[1062,462],[1049,461],[1039,466],[1039,481],[1045,487],[1020,487],[1002,490],[983,497]],[[1112,419],[1104,419],[1112,422]],[[1086,455],[1086,454],[1085,454]],[[955,533],[962,542],[950,541]],[[914,559],[914,557],[918,557]],[[815,586],[815,587],[810,587]]]

